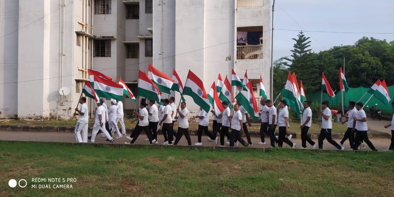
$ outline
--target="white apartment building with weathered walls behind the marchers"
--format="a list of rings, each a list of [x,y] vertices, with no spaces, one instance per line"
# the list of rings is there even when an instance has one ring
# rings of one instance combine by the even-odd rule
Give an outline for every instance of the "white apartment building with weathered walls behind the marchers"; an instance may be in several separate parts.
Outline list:
[[[247,70],[254,84],[262,75],[269,95],[270,4],[0,0],[0,118],[71,119],[87,69],[122,77],[136,95],[138,70],[148,63],[169,76],[175,68],[183,83],[190,69],[207,91],[218,73],[224,79],[234,69],[242,79]],[[70,93],[61,96],[61,87]],[[124,98],[125,109],[134,104]]]

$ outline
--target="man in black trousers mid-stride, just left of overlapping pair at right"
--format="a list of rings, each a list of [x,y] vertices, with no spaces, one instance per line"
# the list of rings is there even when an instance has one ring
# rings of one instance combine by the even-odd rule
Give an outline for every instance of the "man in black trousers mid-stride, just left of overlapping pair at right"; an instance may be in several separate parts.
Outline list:
[[[339,150],[344,150],[345,147],[341,147],[338,143],[336,143],[331,138],[331,129],[333,128],[331,121],[331,110],[328,108],[329,104],[328,101],[325,100],[322,102],[322,109],[320,109],[320,114],[322,115],[322,130],[320,130],[319,135],[319,149],[323,149],[323,141],[327,139],[329,143],[335,146]]]

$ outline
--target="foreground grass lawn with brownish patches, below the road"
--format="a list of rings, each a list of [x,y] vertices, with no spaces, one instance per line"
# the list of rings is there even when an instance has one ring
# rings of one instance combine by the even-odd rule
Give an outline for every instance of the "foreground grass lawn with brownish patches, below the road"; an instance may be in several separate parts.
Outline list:
[[[394,194],[394,154],[293,149],[187,150],[0,141],[0,196],[379,196]],[[11,178],[26,188],[7,186]],[[76,178],[32,189],[32,178]],[[41,184],[49,184],[41,183]],[[70,184],[70,183],[69,183]],[[52,185],[52,184],[51,184]]]

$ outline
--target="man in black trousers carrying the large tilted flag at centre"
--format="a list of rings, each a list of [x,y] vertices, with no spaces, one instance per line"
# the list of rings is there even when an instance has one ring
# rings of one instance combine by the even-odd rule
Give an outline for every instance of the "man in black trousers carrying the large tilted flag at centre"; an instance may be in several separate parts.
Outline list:
[[[180,109],[177,108],[178,116],[175,119],[178,119],[178,132],[177,138],[175,139],[174,145],[177,145],[180,138],[182,138],[183,134],[185,134],[185,138],[188,141],[188,145],[191,146],[191,139],[189,134],[189,121],[188,121],[188,114],[189,110],[186,109],[186,102],[180,103]]]

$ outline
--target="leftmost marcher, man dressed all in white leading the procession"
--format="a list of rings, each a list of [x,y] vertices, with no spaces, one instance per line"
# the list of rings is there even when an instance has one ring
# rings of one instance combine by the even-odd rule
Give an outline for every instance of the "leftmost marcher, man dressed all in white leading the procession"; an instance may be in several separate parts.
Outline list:
[[[75,125],[75,139],[76,142],[87,142],[87,127],[89,125],[89,110],[86,105],[86,97],[81,97],[79,99],[79,103],[81,104],[79,110],[75,108],[74,115],[78,115],[78,121]],[[78,112],[78,113],[76,113]],[[81,136],[82,132],[82,136]]]

